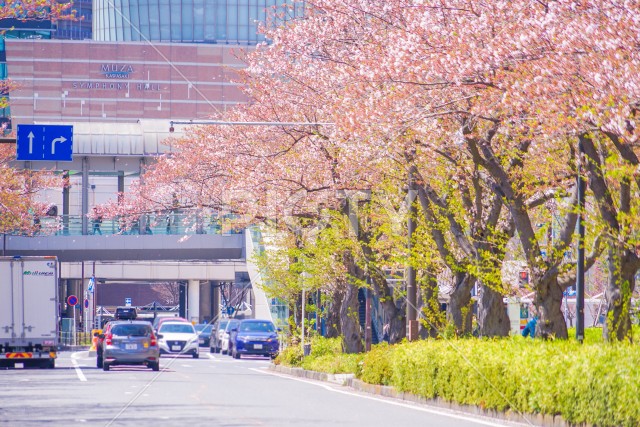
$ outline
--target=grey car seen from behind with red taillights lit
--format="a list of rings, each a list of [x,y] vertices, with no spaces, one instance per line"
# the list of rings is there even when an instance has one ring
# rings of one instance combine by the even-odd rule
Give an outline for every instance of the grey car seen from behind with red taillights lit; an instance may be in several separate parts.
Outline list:
[[[149,322],[143,320],[115,320],[109,322],[102,337],[102,369],[108,371],[116,365],[146,365],[160,370],[158,337]],[[98,363],[99,365],[99,363]]]

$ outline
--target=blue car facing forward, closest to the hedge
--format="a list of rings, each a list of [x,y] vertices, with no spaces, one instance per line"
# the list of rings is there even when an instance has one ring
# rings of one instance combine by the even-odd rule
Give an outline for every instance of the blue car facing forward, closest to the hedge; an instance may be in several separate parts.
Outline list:
[[[229,351],[234,359],[260,355],[275,359],[280,349],[278,329],[270,320],[245,319],[231,330]]]

